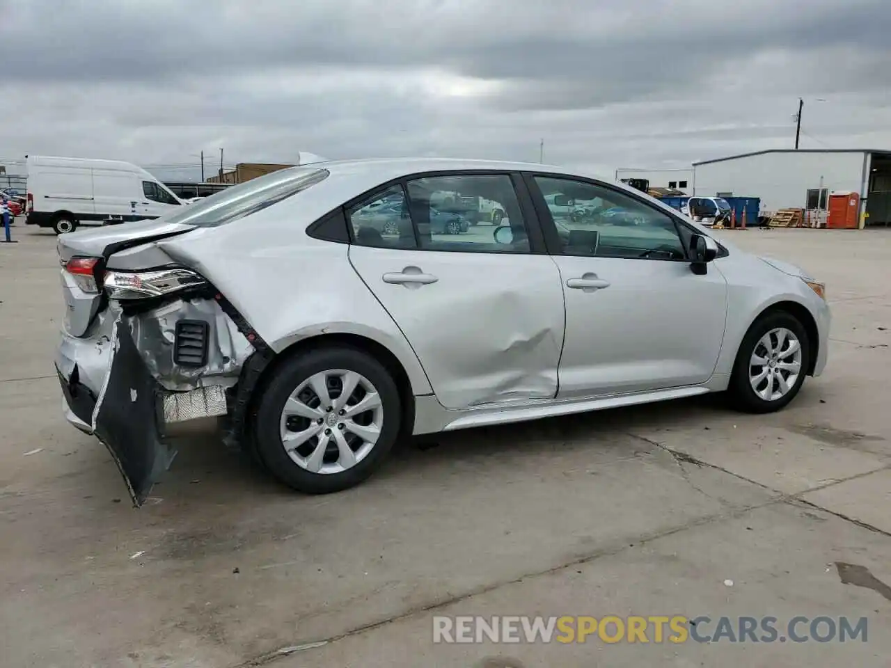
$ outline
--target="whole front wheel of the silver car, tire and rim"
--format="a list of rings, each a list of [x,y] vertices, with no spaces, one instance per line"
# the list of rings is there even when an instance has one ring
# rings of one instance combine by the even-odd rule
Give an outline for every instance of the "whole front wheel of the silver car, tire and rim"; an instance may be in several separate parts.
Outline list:
[[[752,324],[740,344],[730,382],[742,411],[768,413],[785,407],[810,368],[810,342],[798,319],[777,311]]]

